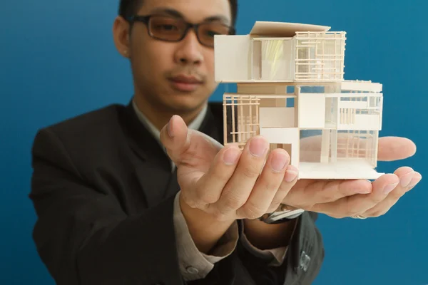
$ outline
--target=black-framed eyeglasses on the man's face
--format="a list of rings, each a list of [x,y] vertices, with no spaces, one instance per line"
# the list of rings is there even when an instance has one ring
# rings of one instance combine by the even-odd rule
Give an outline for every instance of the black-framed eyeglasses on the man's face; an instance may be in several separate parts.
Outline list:
[[[130,22],[141,22],[148,26],[148,34],[160,41],[178,42],[183,40],[190,28],[195,30],[198,41],[203,46],[214,47],[215,35],[235,34],[235,28],[218,22],[190,24],[173,16],[148,15],[132,16]]]

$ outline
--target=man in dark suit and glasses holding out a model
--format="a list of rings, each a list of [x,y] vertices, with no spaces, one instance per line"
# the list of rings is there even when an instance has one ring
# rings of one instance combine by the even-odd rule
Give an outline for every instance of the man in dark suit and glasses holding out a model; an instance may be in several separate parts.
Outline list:
[[[121,1],[113,36],[133,99],[34,141],[34,239],[56,284],[311,284],[324,257],[315,212],[375,217],[421,179],[402,167],[373,183],[297,181],[264,138],[219,145],[213,34],[233,33],[236,13],[234,0]],[[415,150],[380,145],[383,160]],[[280,204],[305,212],[258,219]]]

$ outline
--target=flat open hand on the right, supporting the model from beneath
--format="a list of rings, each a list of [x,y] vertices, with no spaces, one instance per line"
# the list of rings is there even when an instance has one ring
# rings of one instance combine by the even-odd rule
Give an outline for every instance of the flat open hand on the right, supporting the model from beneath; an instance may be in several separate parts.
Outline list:
[[[305,161],[319,155],[319,136],[301,140]],[[360,141],[365,145],[365,140]],[[365,147],[361,147],[364,149]],[[414,155],[416,146],[407,138],[379,138],[379,161],[402,160]],[[318,156],[319,157],[319,156]],[[400,197],[422,179],[411,167],[400,167],[394,174],[385,174],[374,182],[367,180],[299,180],[285,197],[284,203],[330,217],[360,215],[379,217],[386,214]]]

